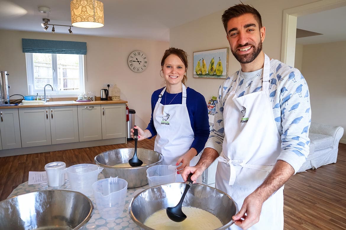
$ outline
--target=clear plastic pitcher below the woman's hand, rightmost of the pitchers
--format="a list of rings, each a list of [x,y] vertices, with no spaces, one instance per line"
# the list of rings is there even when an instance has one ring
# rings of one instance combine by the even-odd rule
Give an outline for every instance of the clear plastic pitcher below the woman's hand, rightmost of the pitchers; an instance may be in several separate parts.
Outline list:
[[[175,182],[177,169],[172,165],[155,165],[147,169],[149,187]]]

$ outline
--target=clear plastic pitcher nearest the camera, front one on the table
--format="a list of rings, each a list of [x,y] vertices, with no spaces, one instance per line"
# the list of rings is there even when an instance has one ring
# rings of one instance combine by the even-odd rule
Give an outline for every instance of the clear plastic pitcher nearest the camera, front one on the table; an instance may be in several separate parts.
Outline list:
[[[96,208],[103,219],[118,218],[125,207],[127,181],[120,178],[106,178],[92,184]]]

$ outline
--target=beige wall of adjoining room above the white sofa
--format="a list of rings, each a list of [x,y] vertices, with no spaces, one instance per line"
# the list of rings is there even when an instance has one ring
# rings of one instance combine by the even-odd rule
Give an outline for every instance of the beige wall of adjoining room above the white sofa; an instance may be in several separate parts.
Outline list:
[[[309,85],[311,120],[346,130],[346,41],[303,46],[302,74]],[[346,143],[346,133],[342,137]]]

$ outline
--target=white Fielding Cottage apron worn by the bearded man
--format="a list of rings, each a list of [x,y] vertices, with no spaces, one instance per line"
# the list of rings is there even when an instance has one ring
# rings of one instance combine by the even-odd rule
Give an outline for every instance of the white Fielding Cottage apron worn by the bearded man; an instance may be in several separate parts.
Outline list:
[[[215,187],[230,195],[238,210],[266,178],[281,152],[281,137],[269,98],[270,59],[264,58],[262,91],[237,97],[236,88],[224,106],[225,139],[218,158]],[[230,229],[240,229],[233,224]],[[283,229],[283,187],[263,203],[260,221],[251,230]]]

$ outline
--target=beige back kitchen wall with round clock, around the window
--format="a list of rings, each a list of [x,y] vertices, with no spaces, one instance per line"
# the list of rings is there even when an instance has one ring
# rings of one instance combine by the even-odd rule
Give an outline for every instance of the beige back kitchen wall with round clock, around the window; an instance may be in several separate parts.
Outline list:
[[[143,128],[147,126],[151,116],[151,94],[162,84],[160,62],[164,51],[169,47],[168,42],[48,32],[0,30],[0,33],[0,70],[10,74],[10,95],[28,93],[22,38],[83,41],[88,49],[85,91],[96,91],[97,96],[100,96],[103,83],[117,84],[121,90],[121,99],[127,100],[129,108],[136,110],[136,124]],[[148,68],[142,73],[131,71],[127,65],[128,55],[134,50],[142,50],[148,56]]]

